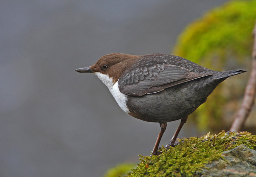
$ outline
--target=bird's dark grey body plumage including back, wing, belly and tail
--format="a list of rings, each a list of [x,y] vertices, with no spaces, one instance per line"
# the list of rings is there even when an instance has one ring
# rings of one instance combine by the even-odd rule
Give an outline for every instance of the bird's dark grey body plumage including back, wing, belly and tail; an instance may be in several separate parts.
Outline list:
[[[130,115],[150,122],[174,121],[190,115],[229,76],[244,70],[218,72],[167,54],[140,57],[119,80],[129,95]],[[136,99],[136,97],[140,99]]]

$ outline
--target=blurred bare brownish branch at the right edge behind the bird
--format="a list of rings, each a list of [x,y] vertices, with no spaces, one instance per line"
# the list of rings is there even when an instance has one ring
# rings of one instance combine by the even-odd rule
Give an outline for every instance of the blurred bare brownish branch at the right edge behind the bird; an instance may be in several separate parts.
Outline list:
[[[256,23],[253,29],[253,37],[252,71],[244,92],[242,105],[235,117],[235,120],[233,121],[230,131],[238,132],[243,128],[244,122],[249,116],[254,104],[256,90]]]

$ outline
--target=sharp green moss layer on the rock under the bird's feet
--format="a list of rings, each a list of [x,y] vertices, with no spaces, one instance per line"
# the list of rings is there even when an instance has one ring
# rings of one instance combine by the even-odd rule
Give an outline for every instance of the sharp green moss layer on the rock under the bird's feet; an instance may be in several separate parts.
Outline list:
[[[217,135],[209,133],[203,137],[179,140],[180,144],[162,150],[159,156],[141,156],[136,169],[127,173],[128,177],[192,177],[205,168],[205,164],[221,158],[223,151],[239,145],[256,150],[256,136],[248,132],[225,132]]]

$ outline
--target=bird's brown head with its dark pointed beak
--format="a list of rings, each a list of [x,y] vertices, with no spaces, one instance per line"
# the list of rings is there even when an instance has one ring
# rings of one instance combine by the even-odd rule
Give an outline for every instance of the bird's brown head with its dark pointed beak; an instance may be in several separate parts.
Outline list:
[[[108,75],[116,82],[125,70],[130,67],[139,56],[123,54],[123,53],[110,53],[101,57],[94,65],[85,68],[79,68],[77,72],[92,72]]]

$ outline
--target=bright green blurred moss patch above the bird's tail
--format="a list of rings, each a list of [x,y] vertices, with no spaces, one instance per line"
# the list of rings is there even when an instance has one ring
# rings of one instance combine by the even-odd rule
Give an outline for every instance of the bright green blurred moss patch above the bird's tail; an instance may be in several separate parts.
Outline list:
[[[186,27],[178,39],[174,54],[194,62],[201,62],[203,58],[213,55],[220,61],[225,60],[227,50],[231,50],[235,56],[250,55],[255,6],[255,0],[230,1],[209,11]],[[205,64],[212,67],[212,63]]]

